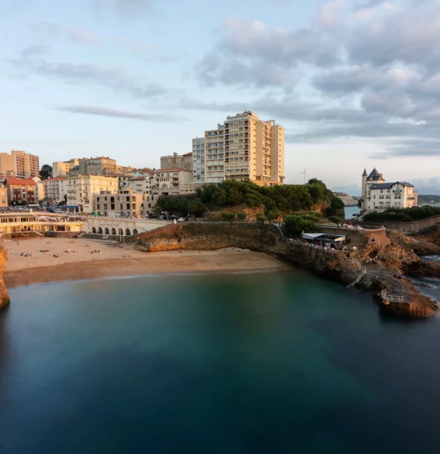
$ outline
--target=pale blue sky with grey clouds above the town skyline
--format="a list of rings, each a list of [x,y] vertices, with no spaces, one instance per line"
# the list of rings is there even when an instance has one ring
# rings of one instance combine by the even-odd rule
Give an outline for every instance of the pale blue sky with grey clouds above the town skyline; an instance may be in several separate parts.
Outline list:
[[[440,0],[1,0],[0,152],[159,167],[251,110],[286,183],[440,193]]]

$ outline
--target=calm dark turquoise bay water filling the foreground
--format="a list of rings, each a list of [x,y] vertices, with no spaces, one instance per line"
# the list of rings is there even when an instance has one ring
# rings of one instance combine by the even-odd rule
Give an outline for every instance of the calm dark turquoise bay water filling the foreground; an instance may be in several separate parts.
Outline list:
[[[435,453],[440,324],[298,270],[15,288],[0,453]]]

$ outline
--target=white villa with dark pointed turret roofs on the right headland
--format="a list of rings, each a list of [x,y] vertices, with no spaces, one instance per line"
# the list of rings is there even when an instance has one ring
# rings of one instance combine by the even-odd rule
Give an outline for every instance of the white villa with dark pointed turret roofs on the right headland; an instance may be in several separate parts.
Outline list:
[[[367,175],[362,174],[362,213],[381,212],[390,208],[411,208],[417,206],[417,192],[408,182],[386,183],[383,174],[376,168]]]

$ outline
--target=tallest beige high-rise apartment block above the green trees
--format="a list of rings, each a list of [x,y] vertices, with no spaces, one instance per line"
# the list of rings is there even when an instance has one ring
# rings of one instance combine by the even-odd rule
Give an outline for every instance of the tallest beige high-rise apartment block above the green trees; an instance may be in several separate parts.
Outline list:
[[[204,153],[202,144],[203,139],[193,139],[194,182],[284,184],[284,128],[274,120],[262,121],[249,111],[227,117],[217,129],[205,131]]]

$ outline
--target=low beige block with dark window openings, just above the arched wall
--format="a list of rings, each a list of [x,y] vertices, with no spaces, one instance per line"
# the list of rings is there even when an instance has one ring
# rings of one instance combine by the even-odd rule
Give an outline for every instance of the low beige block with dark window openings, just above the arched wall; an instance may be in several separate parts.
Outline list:
[[[135,193],[131,189],[94,194],[96,211],[101,216],[108,217],[139,217],[143,214],[143,200],[142,193]]]

